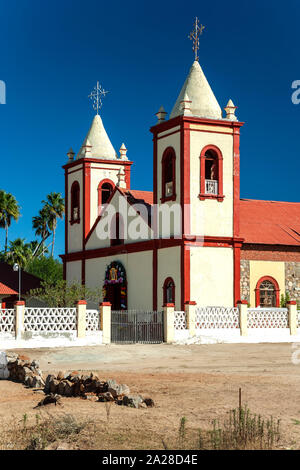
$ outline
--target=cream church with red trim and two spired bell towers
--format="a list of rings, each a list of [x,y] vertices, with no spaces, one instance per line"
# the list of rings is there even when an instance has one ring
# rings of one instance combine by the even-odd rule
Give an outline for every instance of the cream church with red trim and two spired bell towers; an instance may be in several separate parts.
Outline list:
[[[77,156],[70,151],[63,167],[69,283],[101,287],[99,300],[115,310],[161,310],[165,303],[182,310],[186,302],[232,307],[241,298],[279,306],[288,263],[296,273],[300,266],[300,204],[240,200],[243,123],[235,110],[229,100],[222,112],[195,61],[169,119],[161,108],[151,128],[153,192],[131,190],[126,147],[118,156],[95,115]],[[278,231],[271,239],[262,230],[281,208],[298,236]],[[295,282],[296,292],[299,275]]]

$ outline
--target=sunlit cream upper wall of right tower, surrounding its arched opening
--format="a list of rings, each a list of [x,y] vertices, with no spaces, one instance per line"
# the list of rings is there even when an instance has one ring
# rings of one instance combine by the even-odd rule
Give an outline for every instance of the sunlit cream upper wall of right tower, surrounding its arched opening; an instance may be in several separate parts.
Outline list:
[[[190,132],[190,190],[191,190],[191,233],[207,236],[233,235],[233,135],[193,131],[208,126],[191,125]],[[215,128],[208,127],[210,130]],[[226,128],[222,128],[225,132]],[[200,201],[200,154],[207,145],[217,146],[223,154],[224,200],[205,199]]]

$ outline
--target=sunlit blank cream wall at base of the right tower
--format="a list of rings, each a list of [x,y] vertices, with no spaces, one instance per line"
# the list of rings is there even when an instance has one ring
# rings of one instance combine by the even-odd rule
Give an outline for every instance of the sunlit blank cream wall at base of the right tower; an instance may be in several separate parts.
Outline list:
[[[191,295],[199,306],[233,307],[233,249],[191,247]]]

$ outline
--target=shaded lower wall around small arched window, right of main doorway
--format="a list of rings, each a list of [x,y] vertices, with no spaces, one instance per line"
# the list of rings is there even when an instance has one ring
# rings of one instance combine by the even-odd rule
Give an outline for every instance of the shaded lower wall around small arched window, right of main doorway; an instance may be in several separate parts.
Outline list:
[[[161,248],[157,251],[157,309],[163,305],[163,285],[167,277],[175,283],[175,310],[181,310],[181,248]]]

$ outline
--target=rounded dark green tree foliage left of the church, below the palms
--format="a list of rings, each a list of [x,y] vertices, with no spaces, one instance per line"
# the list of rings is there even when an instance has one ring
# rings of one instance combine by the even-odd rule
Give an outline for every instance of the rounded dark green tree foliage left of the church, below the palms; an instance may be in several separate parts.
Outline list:
[[[51,257],[46,258],[46,256],[41,256],[39,258],[32,258],[26,265],[26,271],[53,285],[63,279],[62,263]]]

